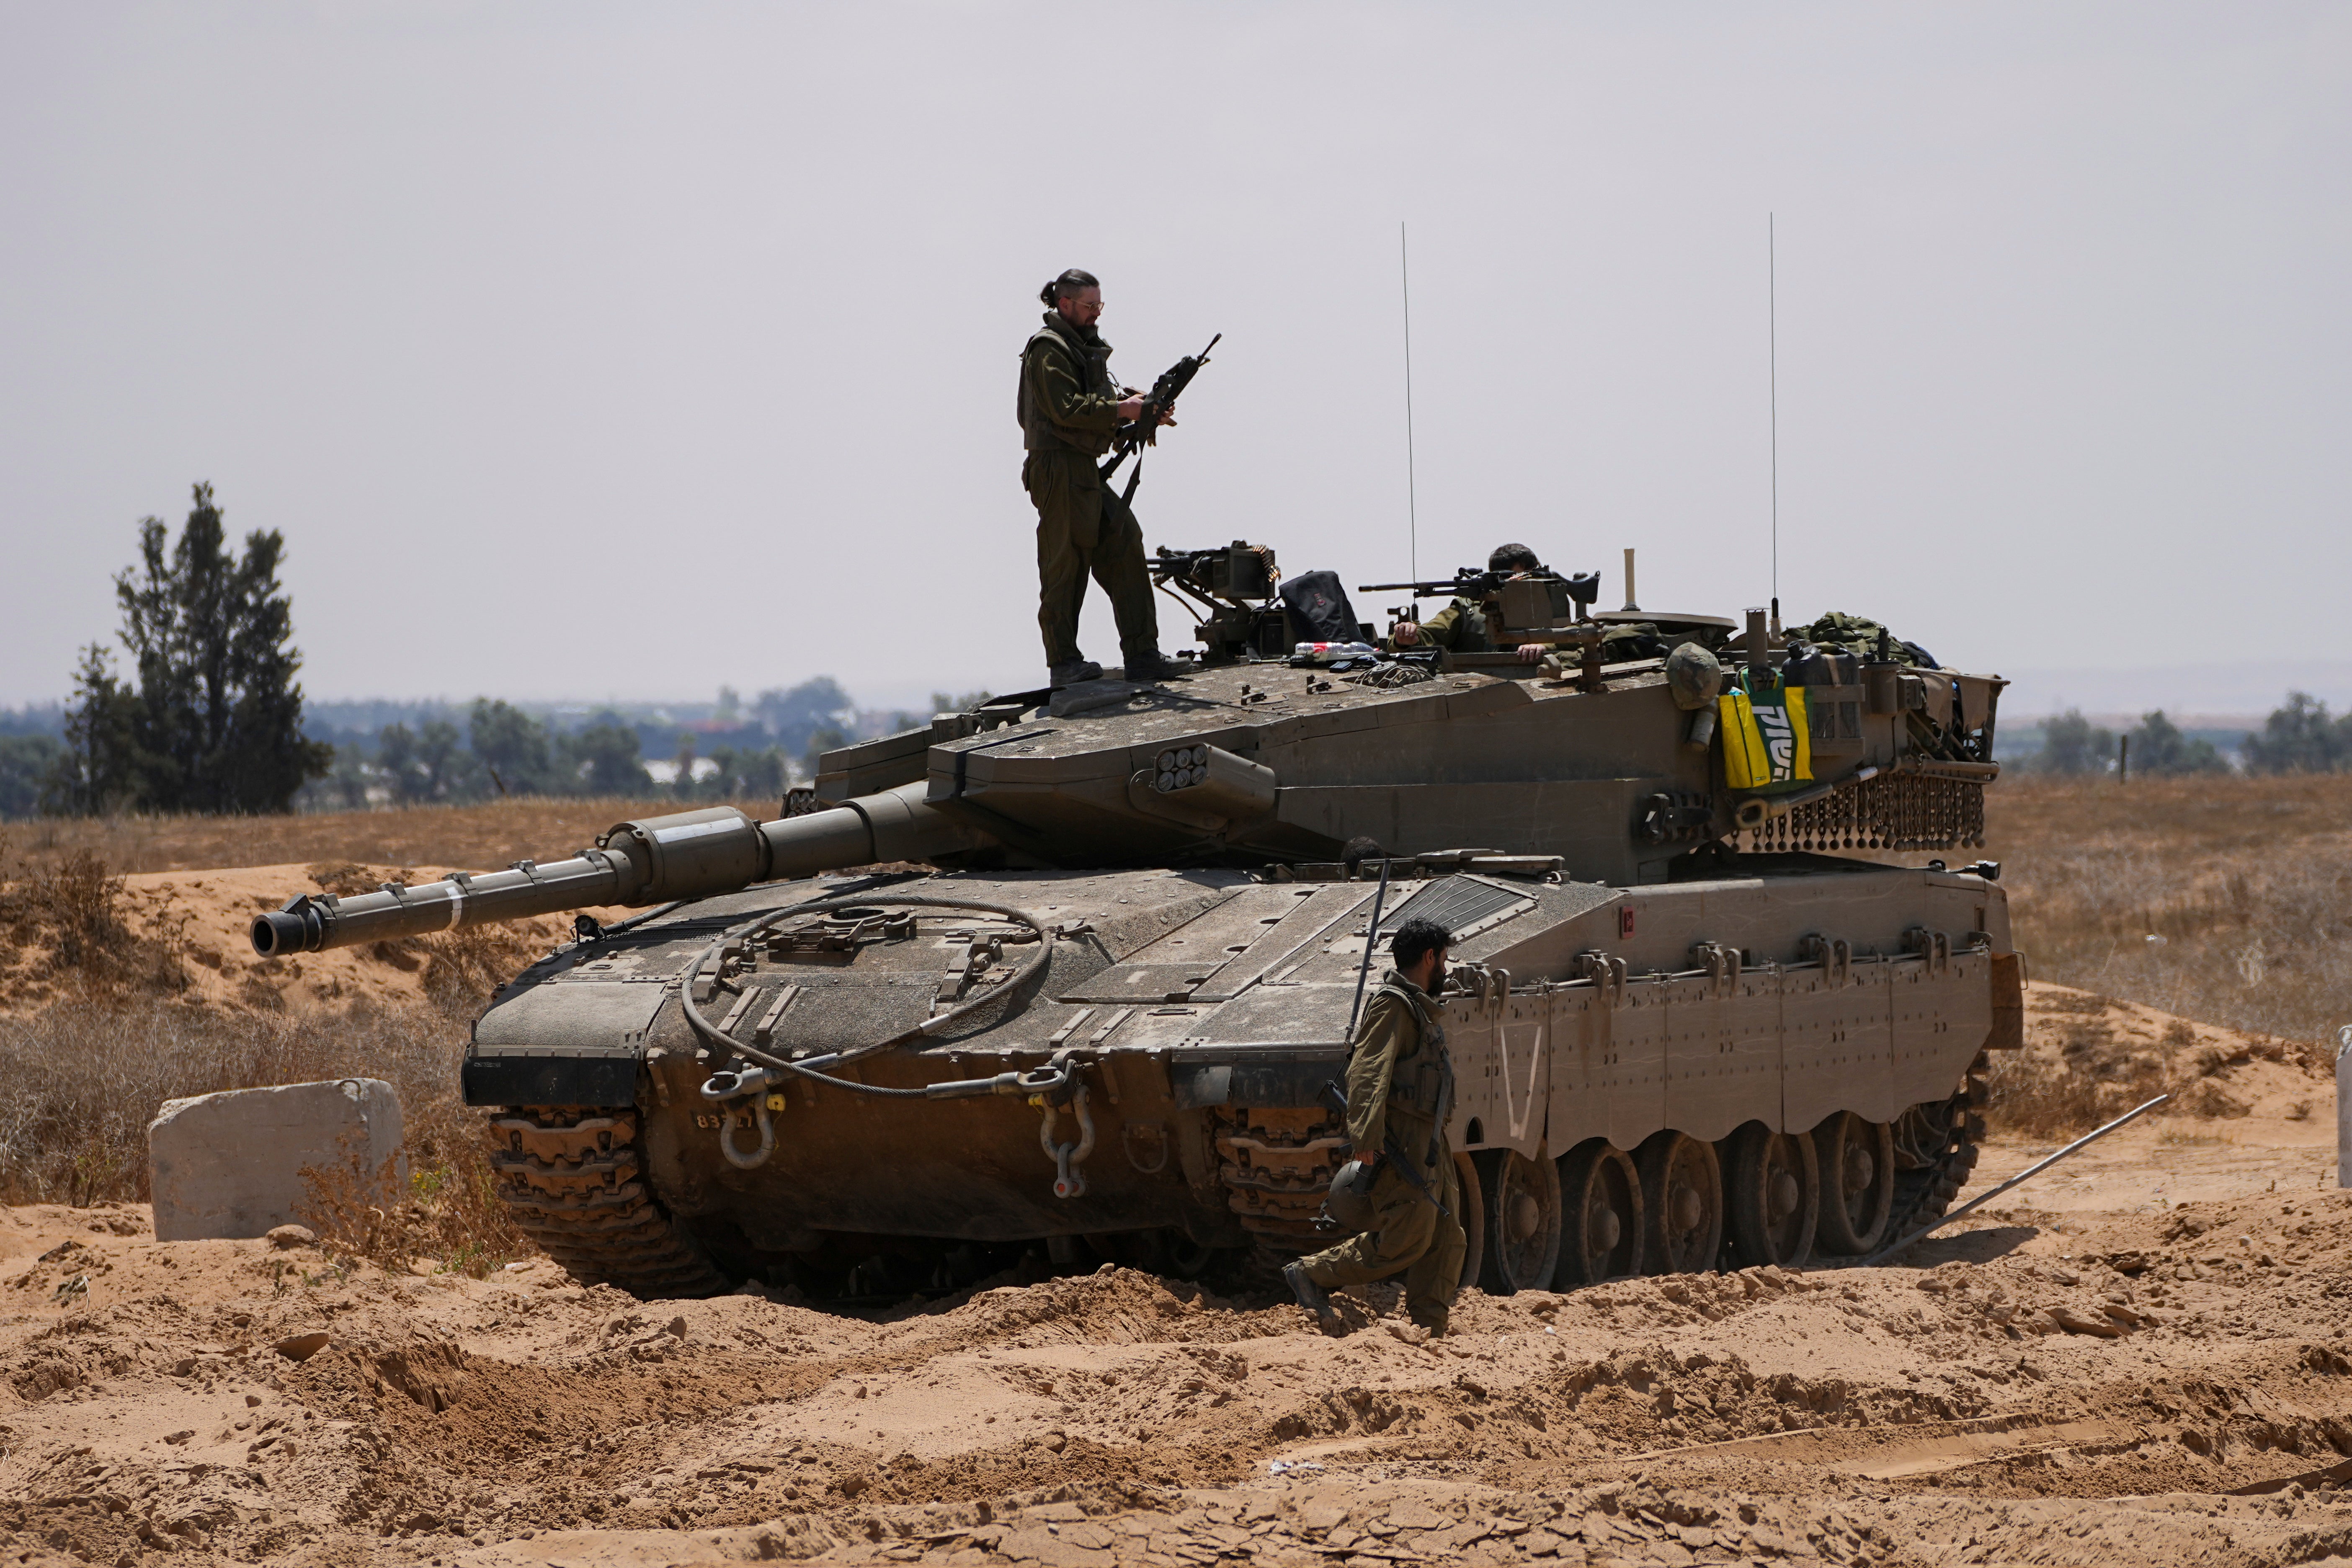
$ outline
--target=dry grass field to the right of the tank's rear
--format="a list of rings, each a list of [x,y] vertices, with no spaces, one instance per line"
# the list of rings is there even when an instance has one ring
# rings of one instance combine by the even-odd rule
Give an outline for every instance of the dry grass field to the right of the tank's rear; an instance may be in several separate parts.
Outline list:
[[[2352,776],[2004,778],[1987,839],[2034,978],[2298,1041],[2352,1023]]]

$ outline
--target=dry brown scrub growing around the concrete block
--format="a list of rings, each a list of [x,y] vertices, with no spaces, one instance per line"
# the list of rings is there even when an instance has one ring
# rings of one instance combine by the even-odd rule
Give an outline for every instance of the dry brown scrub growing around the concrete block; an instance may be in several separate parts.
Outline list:
[[[350,1208],[362,1194],[381,1199],[376,1173],[350,1182],[329,1173],[320,1234],[355,1255],[442,1258],[480,1272],[529,1241],[492,1187],[482,1114],[459,1105],[463,1048],[463,1016],[435,1006],[226,1016],[151,999],[0,1018],[0,1084],[9,1086],[0,1100],[0,1201],[146,1201],[146,1126],[165,1100],[374,1077],[400,1093],[407,1190],[395,1204]],[[386,1234],[360,1222],[369,1204],[383,1208]]]

